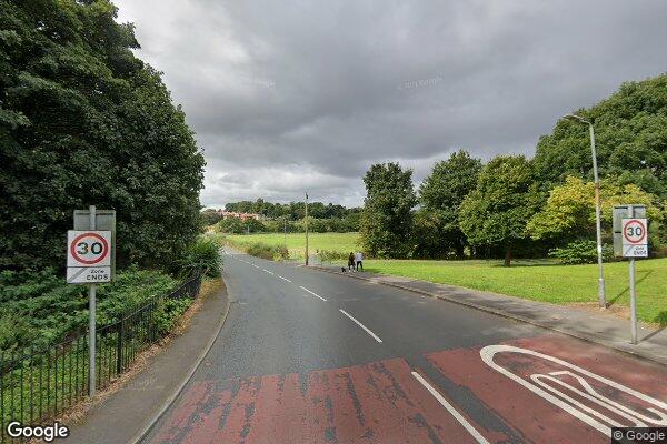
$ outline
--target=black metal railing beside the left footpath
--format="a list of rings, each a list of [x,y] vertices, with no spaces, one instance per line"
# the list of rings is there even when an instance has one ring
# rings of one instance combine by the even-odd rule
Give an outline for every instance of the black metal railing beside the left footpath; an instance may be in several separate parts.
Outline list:
[[[200,285],[200,275],[188,279],[171,293],[153,296],[97,329],[96,387],[109,385],[130,367],[138,352],[169,333],[160,316],[166,303],[196,297]],[[10,422],[43,423],[88,395],[88,339],[87,332],[79,332],[46,350],[0,352],[0,442],[10,440]]]

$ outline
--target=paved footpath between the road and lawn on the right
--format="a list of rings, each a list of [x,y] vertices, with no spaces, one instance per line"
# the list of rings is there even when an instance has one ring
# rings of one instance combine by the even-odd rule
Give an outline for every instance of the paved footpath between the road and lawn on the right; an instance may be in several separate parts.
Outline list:
[[[466,305],[667,365],[666,327],[639,323],[637,329],[638,343],[634,345],[630,343],[630,321],[604,313],[597,314],[563,305],[528,301],[410,278],[368,272],[341,273],[340,266],[320,265],[310,268]]]

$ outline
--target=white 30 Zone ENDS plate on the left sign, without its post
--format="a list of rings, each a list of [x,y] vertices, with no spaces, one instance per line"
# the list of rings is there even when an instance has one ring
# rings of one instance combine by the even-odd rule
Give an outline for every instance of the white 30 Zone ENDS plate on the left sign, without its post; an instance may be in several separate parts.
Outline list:
[[[111,232],[67,232],[67,282],[97,283],[111,280]]]

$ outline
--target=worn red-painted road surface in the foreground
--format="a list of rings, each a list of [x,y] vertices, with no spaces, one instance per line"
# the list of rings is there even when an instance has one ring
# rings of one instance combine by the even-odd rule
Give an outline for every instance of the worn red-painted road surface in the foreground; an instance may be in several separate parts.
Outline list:
[[[608,427],[609,421],[651,426],[667,421],[667,372],[658,365],[555,335],[505,345],[541,355],[501,351],[492,362],[526,384],[549,394],[558,391],[555,398],[570,412],[484,362],[481,346],[426,356],[446,380],[501,418],[499,430],[486,428],[488,422],[469,415],[431,381],[490,443],[517,442],[517,437],[535,443],[608,443],[600,427]],[[560,359],[574,367],[545,356]],[[414,370],[425,374],[422,369],[412,369],[397,357],[308,374],[197,381],[161,423],[153,442],[478,442],[412,376]]]

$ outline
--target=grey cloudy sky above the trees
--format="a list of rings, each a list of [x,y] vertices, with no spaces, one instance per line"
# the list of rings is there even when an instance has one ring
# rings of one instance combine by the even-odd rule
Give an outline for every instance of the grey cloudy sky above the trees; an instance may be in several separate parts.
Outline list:
[[[667,71],[665,0],[116,0],[207,159],[207,206],[357,205],[400,161],[532,154],[558,117]]]

